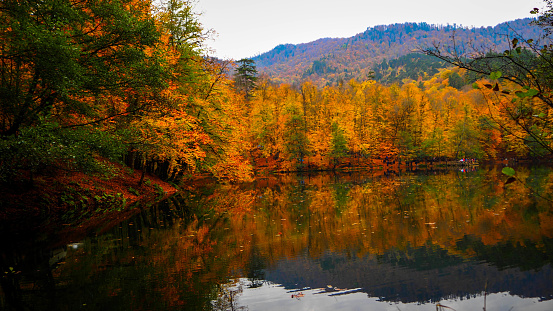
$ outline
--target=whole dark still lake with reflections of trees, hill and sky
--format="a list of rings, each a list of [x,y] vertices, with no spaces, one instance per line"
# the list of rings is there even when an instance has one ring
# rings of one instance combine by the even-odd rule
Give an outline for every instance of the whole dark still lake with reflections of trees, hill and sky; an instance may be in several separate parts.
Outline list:
[[[0,307],[553,310],[553,172],[517,177],[320,174],[183,191],[82,241],[12,239]]]

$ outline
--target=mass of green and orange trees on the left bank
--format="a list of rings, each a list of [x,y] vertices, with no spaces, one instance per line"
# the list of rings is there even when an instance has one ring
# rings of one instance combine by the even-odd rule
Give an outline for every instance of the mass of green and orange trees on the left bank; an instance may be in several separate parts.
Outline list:
[[[47,168],[162,176],[239,161],[228,62],[190,1],[0,3],[0,179]],[[211,159],[211,160],[210,160]],[[245,178],[247,164],[227,176]],[[159,172],[158,172],[159,173]]]

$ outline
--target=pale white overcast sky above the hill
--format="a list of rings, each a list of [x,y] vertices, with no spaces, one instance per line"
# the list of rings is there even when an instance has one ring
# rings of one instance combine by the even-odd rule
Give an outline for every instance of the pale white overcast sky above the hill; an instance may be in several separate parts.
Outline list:
[[[367,27],[403,22],[495,26],[533,16],[542,0],[196,0],[207,42],[220,58],[240,59],[279,44],[351,37]]]

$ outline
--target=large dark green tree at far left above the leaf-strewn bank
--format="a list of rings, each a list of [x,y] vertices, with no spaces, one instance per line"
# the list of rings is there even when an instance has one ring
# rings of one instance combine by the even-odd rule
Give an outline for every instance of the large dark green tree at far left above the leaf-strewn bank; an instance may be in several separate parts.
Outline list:
[[[165,88],[160,36],[148,1],[0,2],[0,177],[119,159],[123,132],[105,121]]]

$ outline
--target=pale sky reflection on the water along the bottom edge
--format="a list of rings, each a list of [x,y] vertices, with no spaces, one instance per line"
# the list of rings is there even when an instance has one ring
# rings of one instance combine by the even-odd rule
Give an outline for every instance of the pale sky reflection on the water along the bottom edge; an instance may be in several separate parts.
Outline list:
[[[304,296],[292,298],[292,293],[282,286],[264,284],[258,288],[248,288],[248,281],[241,280],[243,293],[238,296],[238,306],[246,307],[249,311],[324,311],[324,310],[436,310],[436,304],[426,303],[391,303],[379,301],[378,298],[367,297],[362,292],[347,295],[331,295],[331,293],[317,294],[320,289],[303,290]],[[440,303],[456,311],[482,310],[484,296],[471,299],[442,300]],[[451,310],[451,309],[445,309]],[[537,298],[524,299],[511,296],[508,293],[490,294],[486,297],[486,310],[525,310],[525,311],[550,311],[553,310],[553,301],[540,302]]]

